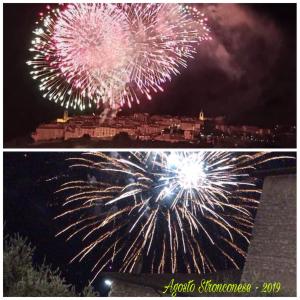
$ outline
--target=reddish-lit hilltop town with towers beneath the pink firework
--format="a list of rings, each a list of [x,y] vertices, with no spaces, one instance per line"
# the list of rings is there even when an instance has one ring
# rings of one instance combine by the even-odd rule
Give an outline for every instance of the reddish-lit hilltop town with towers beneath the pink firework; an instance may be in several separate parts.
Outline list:
[[[276,139],[292,140],[295,128],[260,128],[257,126],[228,125],[225,117],[208,118],[201,111],[198,117],[149,115],[135,113],[103,120],[101,116],[68,116],[64,113],[47,124],[41,124],[32,133],[35,143],[68,141],[90,138],[98,141],[113,141],[118,136],[131,141],[190,143],[219,147],[247,146],[249,144],[272,144]]]

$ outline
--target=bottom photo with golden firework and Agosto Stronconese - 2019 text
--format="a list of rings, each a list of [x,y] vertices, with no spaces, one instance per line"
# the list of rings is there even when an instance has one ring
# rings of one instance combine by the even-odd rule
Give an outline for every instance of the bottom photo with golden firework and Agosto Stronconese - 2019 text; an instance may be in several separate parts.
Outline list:
[[[4,296],[296,296],[296,153],[6,152]]]

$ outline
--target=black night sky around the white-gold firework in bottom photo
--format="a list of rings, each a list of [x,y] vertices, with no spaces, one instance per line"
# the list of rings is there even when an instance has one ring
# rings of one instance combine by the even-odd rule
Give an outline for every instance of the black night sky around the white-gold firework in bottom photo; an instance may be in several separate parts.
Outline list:
[[[55,238],[62,224],[53,220],[61,212],[61,199],[54,192],[62,183],[71,180],[70,162],[65,159],[78,155],[64,152],[4,153],[4,231],[28,237],[37,248],[35,261],[41,263],[46,257],[47,263],[58,266],[67,281],[80,290],[91,279],[90,269],[96,254],[89,255],[84,263],[68,264],[82,249],[82,244],[80,239],[66,243],[63,237]],[[289,155],[296,156],[295,153]],[[295,164],[295,160],[277,160],[264,165],[262,170],[266,175],[274,169],[295,168]],[[260,180],[260,185],[262,182]],[[117,270],[107,268],[106,271]],[[94,286],[104,291],[101,276]]]

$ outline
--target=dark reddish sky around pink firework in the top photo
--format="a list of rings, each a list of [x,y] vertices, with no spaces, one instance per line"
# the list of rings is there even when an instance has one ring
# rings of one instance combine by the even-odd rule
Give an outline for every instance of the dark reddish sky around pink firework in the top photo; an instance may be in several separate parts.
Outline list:
[[[165,92],[131,110],[225,115],[272,127],[296,120],[296,4],[205,4],[213,41],[200,46]],[[62,109],[42,98],[25,64],[45,4],[4,4],[4,139],[34,130]]]

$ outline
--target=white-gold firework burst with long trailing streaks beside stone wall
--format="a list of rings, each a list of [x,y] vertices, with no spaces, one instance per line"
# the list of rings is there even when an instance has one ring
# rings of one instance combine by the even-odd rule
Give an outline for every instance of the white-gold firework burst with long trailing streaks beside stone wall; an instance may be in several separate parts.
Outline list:
[[[142,260],[143,271],[153,273],[212,272],[220,257],[239,268],[261,193],[252,171],[279,158],[289,157],[96,152],[70,158],[70,172],[80,171],[80,179],[57,191],[64,198],[57,218],[67,224],[57,235],[82,239],[72,261],[97,257],[93,280],[110,264],[133,272]]]

